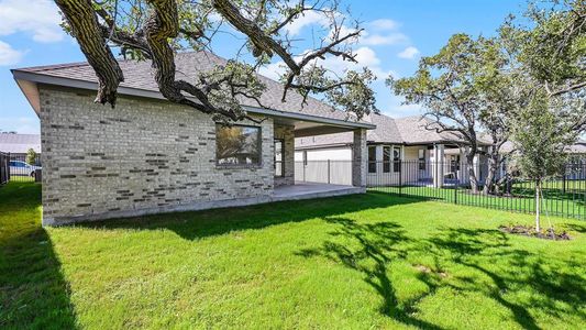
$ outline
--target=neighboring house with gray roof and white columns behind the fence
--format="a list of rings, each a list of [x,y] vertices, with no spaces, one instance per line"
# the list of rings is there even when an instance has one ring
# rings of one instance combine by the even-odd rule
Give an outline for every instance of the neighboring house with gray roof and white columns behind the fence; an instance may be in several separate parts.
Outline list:
[[[450,179],[462,179],[467,142],[454,133],[438,133],[430,119],[421,116],[390,118],[371,114],[367,121],[376,125],[367,132],[368,185],[397,183],[441,186]],[[296,139],[296,162],[351,161],[352,135],[328,134]],[[488,143],[480,142],[486,150]],[[399,162],[401,161],[401,162]],[[436,166],[440,163],[442,166]],[[484,156],[474,161],[475,173],[483,180],[487,173]],[[399,173],[401,177],[399,180]],[[444,179],[440,179],[444,177]]]

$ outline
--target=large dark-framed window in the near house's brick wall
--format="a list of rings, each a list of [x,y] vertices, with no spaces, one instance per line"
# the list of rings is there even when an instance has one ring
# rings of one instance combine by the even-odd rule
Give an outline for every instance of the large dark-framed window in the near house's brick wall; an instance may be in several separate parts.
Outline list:
[[[261,165],[261,128],[215,125],[218,165]]]

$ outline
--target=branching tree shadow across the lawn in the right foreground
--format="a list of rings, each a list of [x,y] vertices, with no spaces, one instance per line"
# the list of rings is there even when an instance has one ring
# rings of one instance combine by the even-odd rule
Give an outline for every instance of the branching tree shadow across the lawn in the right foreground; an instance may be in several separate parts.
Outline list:
[[[564,260],[544,260],[538,253],[515,248],[509,237],[499,230],[447,228],[428,239],[413,239],[395,222],[361,223],[332,217],[330,239],[321,246],[297,252],[305,257],[327,257],[364,276],[383,299],[380,312],[403,324],[440,329],[417,317],[418,304],[442,287],[457,293],[480,293],[510,311],[512,320],[524,329],[540,329],[534,315],[562,317],[576,315],[586,320],[581,310],[586,301],[586,282],[572,273]],[[413,265],[420,272],[416,278],[427,290],[408,300],[397,299],[389,276],[392,261],[407,261],[408,254],[429,256],[430,265]],[[585,255],[574,255],[585,260]],[[451,267],[464,266],[458,274],[446,274]],[[445,272],[445,273],[444,273]],[[486,285],[486,279],[490,285]],[[528,293],[532,298],[517,296]],[[522,296],[522,295],[521,295]],[[564,302],[562,306],[559,302]],[[567,307],[571,306],[571,307]]]

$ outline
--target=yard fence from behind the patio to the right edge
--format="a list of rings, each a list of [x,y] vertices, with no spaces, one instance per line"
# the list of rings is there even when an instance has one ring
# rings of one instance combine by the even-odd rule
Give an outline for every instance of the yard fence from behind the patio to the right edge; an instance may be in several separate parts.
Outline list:
[[[368,162],[366,167],[371,193],[515,212],[535,211],[534,184],[505,166],[497,168],[487,191],[484,191],[488,176],[486,162],[469,166],[464,162],[389,161]],[[541,212],[586,219],[586,164],[568,163],[561,173],[542,184]],[[299,162],[295,174],[296,180],[301,182],[351,185],[352,162]]]

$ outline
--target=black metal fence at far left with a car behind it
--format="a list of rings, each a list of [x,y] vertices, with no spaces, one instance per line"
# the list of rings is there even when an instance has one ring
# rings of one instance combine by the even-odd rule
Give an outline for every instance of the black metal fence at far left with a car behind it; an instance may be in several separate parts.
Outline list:
[[[0,180],[3,183],[35,182],[41,179],[41,170],[40,155],[0,153]]]

